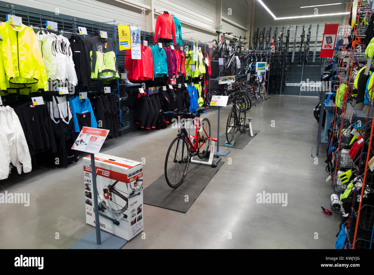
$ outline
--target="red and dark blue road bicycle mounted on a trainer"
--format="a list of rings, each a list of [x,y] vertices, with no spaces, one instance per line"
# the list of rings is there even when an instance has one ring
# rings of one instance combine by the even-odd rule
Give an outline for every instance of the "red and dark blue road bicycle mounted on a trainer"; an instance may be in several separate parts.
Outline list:
[[[169,124],[169,122],[165,120],[165,115],[174,114],[183,118],[191,118],[196,125],[195,136],[190,136],[185,128],[186,120],[182,120],[180,127],[178,127],[177,137],[172,140],[166,153],[164,172],[166,183],[171,188],[177,188],[182,184],[193,155],[197,154],[199,158],[205,158],[210,152],[211,140],[217,141],[217,139],[211,137],[211,124],[208,118],[203,118],[200,121],[202,111],[205,111],[205,107],[198,107],[196,109],[197,115],[187,112],[187,110],[184,110],[184,112],[178,112],[177,109],[170,112],[160,110],[166,124]],[[216,166],[217,164],[212,164],[212,167]]]

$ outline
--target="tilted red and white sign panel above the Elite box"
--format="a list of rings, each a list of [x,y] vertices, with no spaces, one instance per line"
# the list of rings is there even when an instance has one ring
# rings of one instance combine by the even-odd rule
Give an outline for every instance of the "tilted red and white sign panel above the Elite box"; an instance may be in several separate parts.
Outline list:
[[[107,138],[108,133],[109,130],[84,126],[71,149],[97,154],[104,140]]]

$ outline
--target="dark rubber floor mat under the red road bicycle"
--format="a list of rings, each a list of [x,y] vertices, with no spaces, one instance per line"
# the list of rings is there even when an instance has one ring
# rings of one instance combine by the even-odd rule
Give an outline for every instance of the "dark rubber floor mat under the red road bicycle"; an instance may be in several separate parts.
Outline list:
[[[143,202],[186,213],[223,164],[224,161],[220,161],[217,167],[212,168],[208,165],[190,163],[183,183],[177,188],[170,188],[166,183],[165,174],[162,174],[144,189]]]

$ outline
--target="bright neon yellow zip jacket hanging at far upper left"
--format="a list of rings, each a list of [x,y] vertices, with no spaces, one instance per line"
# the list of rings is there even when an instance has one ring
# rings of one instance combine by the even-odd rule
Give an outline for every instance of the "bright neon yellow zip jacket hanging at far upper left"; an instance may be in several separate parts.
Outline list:
[[[11,84],[36,84],[37,89],[47,90],[47,74],[39,44],[32,28],[3,23],[1,54],[7,80]]]

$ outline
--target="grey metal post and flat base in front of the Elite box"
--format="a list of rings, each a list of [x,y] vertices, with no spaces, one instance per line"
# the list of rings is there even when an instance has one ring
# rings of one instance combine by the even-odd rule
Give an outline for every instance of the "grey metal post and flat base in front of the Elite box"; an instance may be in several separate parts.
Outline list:
[[[97,190],[96,187],[96,167],[95,154],[91,154],[91,171],[92,171],[92,190]],[[85,237],[73,244],[70,249],[120,249],[126,244],[126,240],[112,235],[110,233],[100,231],[99,209],[97,192],[93,194],[93,211],[95,212],[95,229],[88,233]]]

